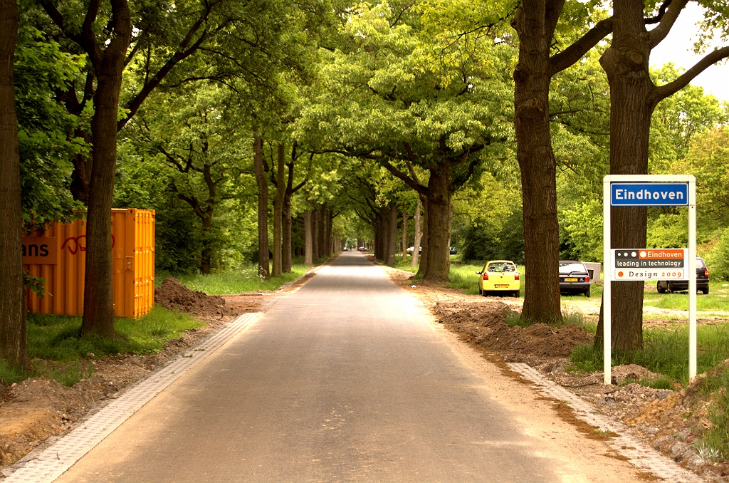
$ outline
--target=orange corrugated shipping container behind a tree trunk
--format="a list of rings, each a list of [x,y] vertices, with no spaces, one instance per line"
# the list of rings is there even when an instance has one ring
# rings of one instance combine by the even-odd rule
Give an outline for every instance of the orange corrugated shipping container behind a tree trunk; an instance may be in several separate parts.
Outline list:
[[[26,290],[26,309],[39,314],[82,315],[86,220],[52,223],[23,236],[23,268],[46,280],[44,298]],[[135,319],[155,304],[155,210],[112,209],[114,314]]]

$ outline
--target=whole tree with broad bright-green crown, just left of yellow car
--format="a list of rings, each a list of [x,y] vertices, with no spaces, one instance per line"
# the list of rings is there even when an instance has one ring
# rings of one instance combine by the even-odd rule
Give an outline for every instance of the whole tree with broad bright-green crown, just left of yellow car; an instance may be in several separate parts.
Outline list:
[[[322,150],[378,161],[424,196],[421,266],[426,279],[447,281],[451,196],[483,166],[482,151],[509,136],[508,107],[496,101],[508,80],[494,75],[507,49],[473,38],[440,58],[443,38],[419,34],[412,4],[359,4],[347,18],[348,50],[327,54],[325,89],[304,109],[302,130]],[[416,182],[408,162],[429,178]]]

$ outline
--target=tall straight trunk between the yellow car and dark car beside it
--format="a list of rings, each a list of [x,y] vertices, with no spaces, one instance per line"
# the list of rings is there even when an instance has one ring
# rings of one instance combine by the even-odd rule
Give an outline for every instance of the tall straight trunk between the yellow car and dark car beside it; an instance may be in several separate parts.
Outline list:
[[[517,158],[524,214],[525,319],[561,320],[556,163],[549,126],[550,42],[561,5],[534,2],[517,16],[519,61],[514,70]],[[550,15],[551,22],[547,20]]]

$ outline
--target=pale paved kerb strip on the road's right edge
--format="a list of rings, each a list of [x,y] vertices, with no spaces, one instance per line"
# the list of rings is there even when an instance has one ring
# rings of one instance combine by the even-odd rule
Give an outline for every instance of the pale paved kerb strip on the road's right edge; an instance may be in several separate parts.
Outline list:
[[[622,422],[609,420],[607,417],[596,414],[595,406],[584,401],[574,393],[569,392],[564,387],[545,378],[537,369],[524,363],[509,363],[509,367],[526,377],[526,379],[529,379],[529,381],[534,382],[537,385],[537,390],[543,395],[569,403],[569,407],[572,408],[574,416],[578,419],[587,422],[589,425],[596,426],[600,430],[616,433],[617,436],[615,438],[609,438],[605,441],[605,444],[615,450],[619,455],[626,457],[628,462],[638,468],[639,471],[650,472],[654,476],[668,482],[703,483],[706,481],[701,476],[681,468],[667,457],[655,451],[655,449],[646,447],[634,436],[628,435],[629,429]]]

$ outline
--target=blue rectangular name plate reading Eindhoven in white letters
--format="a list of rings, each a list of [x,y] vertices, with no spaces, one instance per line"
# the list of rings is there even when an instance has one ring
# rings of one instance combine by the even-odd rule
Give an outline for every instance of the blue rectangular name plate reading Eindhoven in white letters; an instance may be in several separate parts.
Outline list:
[[[688,183],[610,183],[612,206],[688,206]]]

